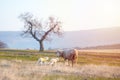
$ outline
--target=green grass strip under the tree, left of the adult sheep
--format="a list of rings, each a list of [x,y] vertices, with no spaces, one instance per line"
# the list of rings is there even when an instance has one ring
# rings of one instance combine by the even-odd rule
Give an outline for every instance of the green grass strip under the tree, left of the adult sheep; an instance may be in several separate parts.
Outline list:
[[[0,59],[21,59],[35,61],[39,57],[54,57],[54,52],[38,52],[35,50],[0,50]]]

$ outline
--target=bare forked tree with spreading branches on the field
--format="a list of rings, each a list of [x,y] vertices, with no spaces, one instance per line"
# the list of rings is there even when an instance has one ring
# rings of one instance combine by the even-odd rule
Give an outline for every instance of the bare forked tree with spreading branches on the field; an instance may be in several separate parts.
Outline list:
[[[61,22],[55,17],[49,17],[47,21],[40,21],[30,13],[21,14],[24,21],[23,35],[31,36],[40,45],[39,51],[44,50],[43,42],[51,41],[53,35],[62,35]]]

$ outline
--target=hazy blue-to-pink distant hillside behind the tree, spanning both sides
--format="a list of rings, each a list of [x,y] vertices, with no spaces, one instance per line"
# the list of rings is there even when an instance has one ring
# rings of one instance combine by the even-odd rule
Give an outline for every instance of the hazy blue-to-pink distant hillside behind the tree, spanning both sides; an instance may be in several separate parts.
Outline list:
[[[20,31],[0,31],[0,40],[10,48],[39,49],[39,44],[32,38],[23,38]],[[54,37],[51,42],[44,42],[45,49],[91,47],[120,43],[120,27],[94,30],[67,31],[63,37]]]

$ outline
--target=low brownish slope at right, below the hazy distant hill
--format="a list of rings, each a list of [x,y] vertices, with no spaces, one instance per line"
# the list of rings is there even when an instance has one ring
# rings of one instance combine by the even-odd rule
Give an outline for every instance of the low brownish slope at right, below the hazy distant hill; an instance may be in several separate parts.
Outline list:
[[[82,48],[82,49],[120,49],[120,44],[86,47],[86,48]]]

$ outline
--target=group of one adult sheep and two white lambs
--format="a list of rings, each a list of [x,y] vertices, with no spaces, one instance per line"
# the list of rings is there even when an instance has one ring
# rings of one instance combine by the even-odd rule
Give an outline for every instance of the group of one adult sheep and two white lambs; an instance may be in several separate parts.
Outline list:
[[[65,50],[57,50],[56,52],[57,57],[62,57],[64,58],[64,61],[68,60],[68,64],[70,65],[70,61],[72,62],[72,67],[73,64],[77,64],[77,59],[78,59],[78,50],[76,49],[65,49]],[[59,61],[59,58],[51,58],[49,57],[41,57],[38,59],[37,64],[40,65],[55,65]]]

